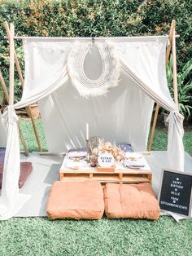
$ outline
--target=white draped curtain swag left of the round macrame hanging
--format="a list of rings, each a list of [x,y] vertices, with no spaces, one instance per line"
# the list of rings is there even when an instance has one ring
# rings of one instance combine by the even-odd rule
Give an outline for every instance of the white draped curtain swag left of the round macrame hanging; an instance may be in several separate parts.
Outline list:
[[[14,108],[23,108],[50,95],[68,81],[68,42],[24,40],[24,91]]]

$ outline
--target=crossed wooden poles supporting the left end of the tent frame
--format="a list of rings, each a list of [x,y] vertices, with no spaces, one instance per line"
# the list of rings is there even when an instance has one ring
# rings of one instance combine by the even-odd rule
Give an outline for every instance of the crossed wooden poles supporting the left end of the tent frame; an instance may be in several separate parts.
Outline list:
[[[13,65],[13,70],[14,70],[14,63],[15,63],[18,74],[19,74],[19,77],[20,77],[21,86],[24,87],[24,77],[23,77],[22,72],[21,72],[20,62],[19,62],[18,57],[16,55],[15,46],[14,46],[14,34],[11,35],[11,28],[14,29],[14,25],[10,24],[10,28],[9,28],[9,24],[7,23],[7,21],[5,21],[3,24],[4,24],[4,27],[7,31],[7,39],[10,42],[10,50],[12,50],[11,54],[13,55],[13,57],[12,57],[13,62],[12,62],[12,60],[10,60],[11,65]],[[12,48],[11,48],[11,43],[12,43]],[[13,82],[14,82],[14,72],[11,73],[10,79],[13,80]],[[12,100],[12,104],[13,104],[13,100]],[[35,124],[35,120],[33,118],[31,108],[30,108],[30,106],[28,106],[27,108],[28,108],[29,116],[30,116],[31,121],[32,121],[33,130],[34,130],[34,134],[35,134],[35,137],[36,137],[36,140],[37,140],[37,145],[38,145],[39,152],[42,152],[41,142],[40,142],[40,139],[39,139],[39,135],[38,135],[38,132],[37,132],[37,127],[36,127],[36,124]]]

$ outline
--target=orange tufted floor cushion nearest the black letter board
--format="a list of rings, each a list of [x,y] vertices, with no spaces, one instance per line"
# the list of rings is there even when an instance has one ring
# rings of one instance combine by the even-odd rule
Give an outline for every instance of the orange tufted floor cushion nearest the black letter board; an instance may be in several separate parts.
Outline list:
[[[150,183],[107,183],[104,201],[107,218],[159,218],[159,203]]]

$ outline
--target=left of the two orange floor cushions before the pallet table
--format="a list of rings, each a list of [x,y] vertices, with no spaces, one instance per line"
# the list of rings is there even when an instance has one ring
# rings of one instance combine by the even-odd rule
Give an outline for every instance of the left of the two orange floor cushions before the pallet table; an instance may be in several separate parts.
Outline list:
[[[98,181],[56,181],[46,205],[50,219],[98,219],[103,217],[103,188]]]

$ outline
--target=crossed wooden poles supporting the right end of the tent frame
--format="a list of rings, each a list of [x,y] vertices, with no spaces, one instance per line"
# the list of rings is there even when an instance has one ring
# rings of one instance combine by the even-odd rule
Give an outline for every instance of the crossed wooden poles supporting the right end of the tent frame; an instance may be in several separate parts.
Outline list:
[[[172,48],[172,73],[173,73],[173,51],[176,52],[176,50],[174,49],[175,47],[175,27],[176,27],[176,21],[172,20],[172,24],[171,24],[171,29],[169,32],[169,45],[167,46],[167,50],[166,50],[166,65],[168,64],[168,60],[169,60],[169,55],[171,52],[171,48]],[[174,46],[173,46],[174,44]],[[176,78],[174,78],[174,73],[173,73],[173,81],[174,79],[175,84],[177,85],[177,68],[176,68],[176,54],[175,54],[175,58],[174,58],[174,73],[176,73]],[[174,86],[174,82],[173,82],[173,86]],[[176,92],[177,95],[177,92]],[[175,90],[174,90],[174,97],[175,97]],[[176,101],[175,101],[176,103]],[[158,113],[159,113],[159,104],[156,104],[156,108],[155,108],[155,116],[154,116],[154,120],[153,120],[153,125],[151,128],[151,138],[150,138],[150,143],[149,143],[149,148],[148,151],[151,152],[151,148],[152,148],[152,143],[153,143],[153,139],[155,136],[155,127],[156,127],[156,123],[157,123],[157,117],[158,117]]]

